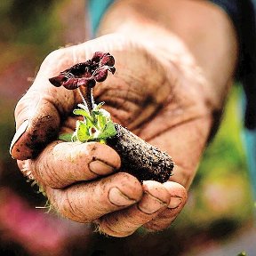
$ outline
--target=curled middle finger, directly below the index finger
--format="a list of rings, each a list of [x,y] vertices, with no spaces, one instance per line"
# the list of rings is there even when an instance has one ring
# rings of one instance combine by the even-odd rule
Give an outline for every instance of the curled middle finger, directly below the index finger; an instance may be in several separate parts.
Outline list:
[[[52,206],[64,217],[92,222],[108,212],[136,204],[142,196],[140,181],[124,172],[65,189],[46,188]]]

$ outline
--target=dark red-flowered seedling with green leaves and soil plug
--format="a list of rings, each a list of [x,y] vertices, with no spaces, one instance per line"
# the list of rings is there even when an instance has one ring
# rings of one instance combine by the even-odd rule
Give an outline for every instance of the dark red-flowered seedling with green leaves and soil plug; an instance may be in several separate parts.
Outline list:
[[[91,60],[78,63],[68,68],[49,81],[68,90],[78,90],[83,100],[78,104],[74,114],[83,116],[76,121],[76,131],[73,134],[60,135],[66,141],[98,141],[114,148],[121,157],[121,170],[129,172],[140,181],[156,180],[165,182],[172,175],[172,158],[165,152],[141,140],[138,136],[115,124],[105,109],[103,102],[94,103],[92,88],[97,82],[103,82],[108,77],[108,71],[113,75],[115,59],[109,53],[95,52]]]

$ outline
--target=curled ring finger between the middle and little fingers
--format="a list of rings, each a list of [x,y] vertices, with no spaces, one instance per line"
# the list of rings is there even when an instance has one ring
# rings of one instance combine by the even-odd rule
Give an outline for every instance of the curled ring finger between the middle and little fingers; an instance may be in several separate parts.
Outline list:
[[[142,188],[143,196],[138,204],[97,220],[100,231],[110,236],[129,236],[166,209],[170,203],[170,194],[161,183],[147,180],[143,182]]]

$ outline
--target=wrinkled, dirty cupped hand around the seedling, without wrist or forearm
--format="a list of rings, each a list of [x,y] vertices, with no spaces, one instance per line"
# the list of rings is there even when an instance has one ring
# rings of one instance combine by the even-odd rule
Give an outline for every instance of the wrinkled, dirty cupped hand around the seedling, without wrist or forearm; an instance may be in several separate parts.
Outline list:
[[[120,157],[107,145],[56,140],[58,133],[74,131],[77,117],[71,113],[81,98],[76,91],[52,86],[48,78],[97,51],[115,56],[116,74],[96,85],[95,100],[106,102],[116,123],[172,156],[177,164],[172,181],[141,185],[128,173],[115,173]],[[185,188],[212,124],[202,96],[204,80],[195,70],[116,35],[52,52],[15,109],[12,156],[71,220],[96,222],[110,236],[129,236],[143,225],[167,228],[186,203]]]

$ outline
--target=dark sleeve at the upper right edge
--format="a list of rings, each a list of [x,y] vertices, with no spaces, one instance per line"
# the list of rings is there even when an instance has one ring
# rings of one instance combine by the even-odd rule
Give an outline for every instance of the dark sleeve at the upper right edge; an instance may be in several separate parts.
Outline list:
[[[209,0],[228,13],[236,28],[239,61],[236,78],[244,86],[246,107],[244,124],[256,129],[256,0]]]

